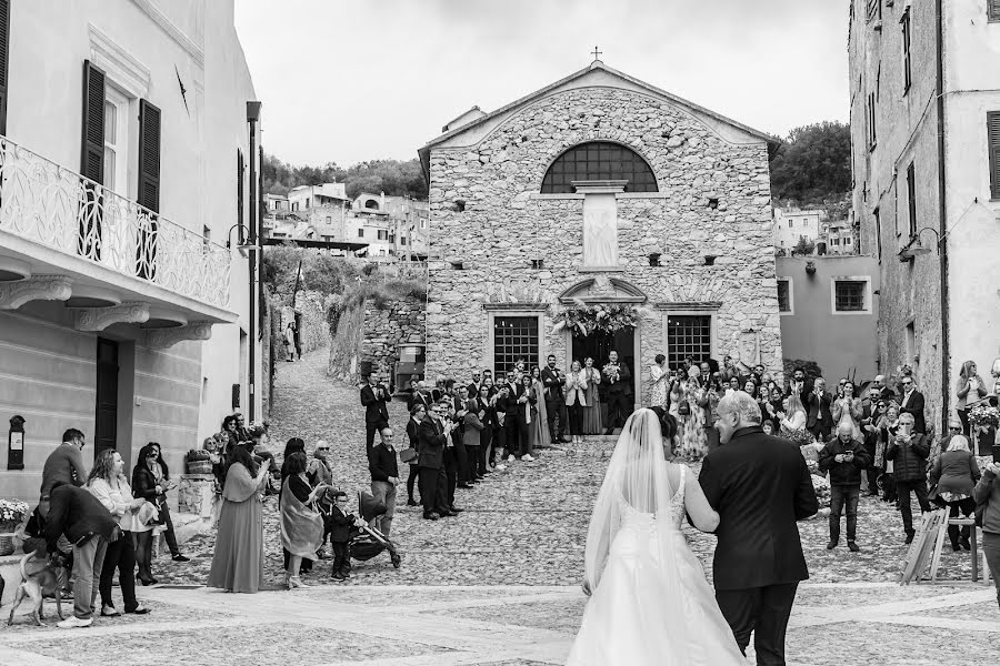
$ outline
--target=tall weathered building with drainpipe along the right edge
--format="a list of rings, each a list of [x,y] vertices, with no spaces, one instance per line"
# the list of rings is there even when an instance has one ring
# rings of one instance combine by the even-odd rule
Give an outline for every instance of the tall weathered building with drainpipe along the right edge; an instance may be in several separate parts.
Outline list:
[[[853,209],[878,258],[879,361],[913,367],[940,432],[1000,324],[1000,3],[853,0]]]

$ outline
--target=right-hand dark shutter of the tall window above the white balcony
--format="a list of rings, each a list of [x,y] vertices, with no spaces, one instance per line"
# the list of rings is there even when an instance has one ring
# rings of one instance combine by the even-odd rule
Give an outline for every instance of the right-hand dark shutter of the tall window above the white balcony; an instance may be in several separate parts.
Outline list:
[[[139,236],[136,249],[136,274],[144,280],[157,278],[157,243],[160,212],[160,110],[139,100]]]

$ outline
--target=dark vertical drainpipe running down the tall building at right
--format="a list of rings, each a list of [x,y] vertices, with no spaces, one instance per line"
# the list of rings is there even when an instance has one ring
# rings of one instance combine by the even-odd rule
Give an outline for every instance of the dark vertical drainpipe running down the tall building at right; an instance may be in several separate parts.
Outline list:
[[[938,32],[938,259],[941,268],[941,430],[948,432],[948,403],[951,387],[951,345],[948,340],[949,297],[948,297],[948,221],[946,219],[946,181],[944,181],[944,16],[943,0],[934,2],[934,21]]]

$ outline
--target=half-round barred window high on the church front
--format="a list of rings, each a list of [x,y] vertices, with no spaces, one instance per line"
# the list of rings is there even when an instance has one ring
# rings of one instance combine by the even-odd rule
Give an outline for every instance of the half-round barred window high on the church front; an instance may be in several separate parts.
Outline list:
[[[542,194],[571,194],[573,181],[626,180],[626,192],[657,192],[652,169],[636,151],[607,141],[581,143],[552,162]]]

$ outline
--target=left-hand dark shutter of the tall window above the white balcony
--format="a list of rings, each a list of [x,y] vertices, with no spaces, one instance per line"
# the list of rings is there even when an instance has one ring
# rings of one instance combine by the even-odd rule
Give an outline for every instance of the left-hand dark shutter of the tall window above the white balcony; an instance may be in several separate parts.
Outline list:
[[[104,72],[83,61],[83,123],[80,132],[80,193],[77,253],[101,260],[104,179]],[[97,184],[94,184],[97,183]]]

